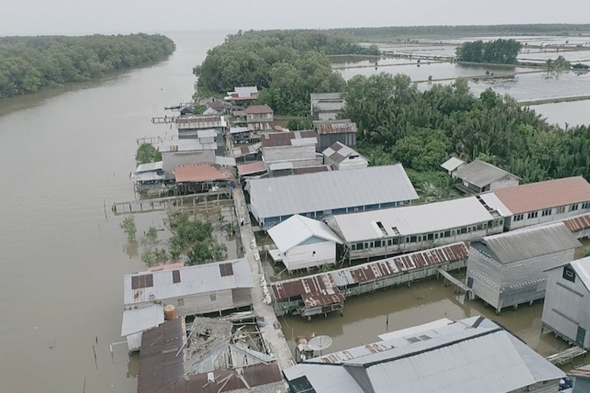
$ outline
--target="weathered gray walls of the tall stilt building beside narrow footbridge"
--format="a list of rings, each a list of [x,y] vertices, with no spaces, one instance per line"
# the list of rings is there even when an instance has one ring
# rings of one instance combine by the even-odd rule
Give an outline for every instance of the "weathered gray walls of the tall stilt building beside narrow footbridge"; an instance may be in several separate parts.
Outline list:
[[[494,306],[504,307],[532,302],[545,297],[545,270],[573,260],[574,249],[500,263],[470,247],[467,282],[473,279],[473,293]]]

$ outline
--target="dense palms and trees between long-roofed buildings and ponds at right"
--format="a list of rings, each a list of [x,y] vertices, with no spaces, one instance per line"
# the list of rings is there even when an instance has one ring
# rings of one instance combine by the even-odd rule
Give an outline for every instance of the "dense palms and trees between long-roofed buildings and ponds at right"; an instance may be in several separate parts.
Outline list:
[[[563,130],[488,89],[474,97],[466,80],[422,93],[407,75],[349,80],[342,117],[359,128],[373,164],[400,161],[419,173],[440,171],[451,155],[476,158],[525,182],[568,176],[590,179],[590,127]]]

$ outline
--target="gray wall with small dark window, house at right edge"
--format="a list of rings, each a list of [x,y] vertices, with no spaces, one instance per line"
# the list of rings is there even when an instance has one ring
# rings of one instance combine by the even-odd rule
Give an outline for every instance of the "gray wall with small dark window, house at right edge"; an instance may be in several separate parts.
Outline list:
[[[558,267],[548,273],[541,322],[569,342],[576,341],[581,326],[586,329],[584,348],[590,349],[590,292],[578,276],[575,282],[564,279],[563,269]]]

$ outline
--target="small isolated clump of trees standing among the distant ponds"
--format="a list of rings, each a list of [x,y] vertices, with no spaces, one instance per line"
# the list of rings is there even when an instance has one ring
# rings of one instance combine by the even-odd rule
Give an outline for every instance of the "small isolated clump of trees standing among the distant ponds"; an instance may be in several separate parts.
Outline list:
[[[516,64],[522,44],[514,39],[463,42],[457,47],[457,60],[483,63]]]

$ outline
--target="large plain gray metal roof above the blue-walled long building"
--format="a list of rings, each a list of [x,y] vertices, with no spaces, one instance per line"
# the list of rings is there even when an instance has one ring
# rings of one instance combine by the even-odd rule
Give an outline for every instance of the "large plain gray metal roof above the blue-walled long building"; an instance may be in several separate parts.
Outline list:
[[[249,181],[258,217],[418,199],[401,164]]]

